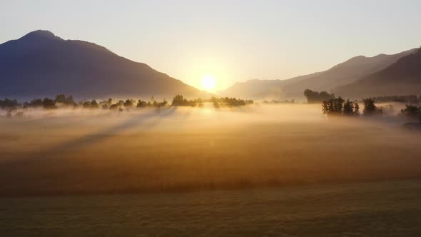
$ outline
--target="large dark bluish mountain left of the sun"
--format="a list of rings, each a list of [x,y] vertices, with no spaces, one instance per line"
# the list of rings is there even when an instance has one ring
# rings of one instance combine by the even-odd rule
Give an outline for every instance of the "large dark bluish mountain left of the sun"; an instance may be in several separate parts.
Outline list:
[[[201,91],[146,64],[125,59],[103,46],[64,40],[34,31],[0,44],[0,97],[32,98],[72,94],[108,96],[199,96]],[[172,97],[171,97],[172,98]]]

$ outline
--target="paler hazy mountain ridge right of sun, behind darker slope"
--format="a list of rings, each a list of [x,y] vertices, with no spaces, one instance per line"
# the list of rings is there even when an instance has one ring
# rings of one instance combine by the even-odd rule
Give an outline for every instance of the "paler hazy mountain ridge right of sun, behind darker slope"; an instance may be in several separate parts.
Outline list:
[[[363,76],[385,69],[398,59],[413,54],[415,51],[417,49],[392,55],[356,56],[327,71],[288,80],[246,81],[243,84],[235,84],[226,91],[222,91],[222,94],[233,92],[239,97],[250,96],[253,99],[300,99],[303,98],[305,89],[330,92],[338,86],[350,84]],[[254,93],[253,88],[255,88]]]

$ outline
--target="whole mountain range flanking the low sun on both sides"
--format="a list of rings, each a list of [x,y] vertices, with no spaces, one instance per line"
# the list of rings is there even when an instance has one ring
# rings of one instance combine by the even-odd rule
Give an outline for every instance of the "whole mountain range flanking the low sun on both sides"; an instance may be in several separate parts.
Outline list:
[[[210,96],[193,86],[86,41],[33,31],[0,44],[0,98],[71,94],[76,98]],[[421,49],[356,56],[327,71],[288,80],[250,80],[219,91],[244,99],[303,99],[303,91],[350,99],[421,94]]]

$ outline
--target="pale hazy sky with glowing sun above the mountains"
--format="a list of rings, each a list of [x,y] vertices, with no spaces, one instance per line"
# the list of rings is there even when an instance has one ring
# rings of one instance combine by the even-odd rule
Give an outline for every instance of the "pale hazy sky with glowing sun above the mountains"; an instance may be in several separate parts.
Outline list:
[[[105,46],[201,88],[289,79],[421,45],[421,1],[0,0],[0,43],[37,29]]]

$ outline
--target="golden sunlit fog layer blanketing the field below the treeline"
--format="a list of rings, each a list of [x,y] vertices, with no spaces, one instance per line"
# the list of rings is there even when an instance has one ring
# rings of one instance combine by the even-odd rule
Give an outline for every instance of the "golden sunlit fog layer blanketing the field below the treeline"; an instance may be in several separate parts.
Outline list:
[[[136,193],[421,175],[421,133],[320,105],[117,112],[30,109],[0,119],[0,194]]]

